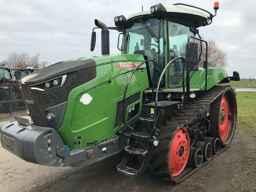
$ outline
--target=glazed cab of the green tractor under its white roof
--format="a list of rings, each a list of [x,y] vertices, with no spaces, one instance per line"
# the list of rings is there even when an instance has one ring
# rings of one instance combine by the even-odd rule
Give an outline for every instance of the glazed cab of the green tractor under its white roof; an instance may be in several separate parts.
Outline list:
[[[186,58],[186,44],[196,42],[196,28],[206,26],[214,17],[182,6],[186,4],[157,4],[150,11],[142,11],[129,17],[114,18],[123,27],[123,54],[142,54],[148,62],[151,86],[156,85],[164,67],[174,58]],[[182,86],[183,60],[175,60],[161,79],[160,87],[170,89]],[[155,69],[155,71],[154,71]],[[195,68],[198,70],[198,68]],[[153,75],[154,73],[154,75]],[[190,72],[191,74],[191,72]],[[186,78],[186,74],[184,74]]]

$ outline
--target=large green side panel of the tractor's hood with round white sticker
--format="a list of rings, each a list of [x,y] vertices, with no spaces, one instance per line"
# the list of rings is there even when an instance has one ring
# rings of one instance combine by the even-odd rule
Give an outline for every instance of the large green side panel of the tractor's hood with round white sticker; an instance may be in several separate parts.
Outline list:
[[[70,92],[64,122],[58,129],[62,140],[71,149],[95,145],[124,128],[124,124],[114,127],[117,103],[123,100],[126,82],[135,68],[124,64],[132,63],[132,66],[136,66],[134,64],[140,64],[144,60],[143,56],[138,54],[92,57],[92,59],[96,62],[96,78]],[[134,104],[140,103],[141,110],[142,94],[148,87],[146,68],[141,68],[132,77],[126,98],[140,92],[140,99]],[[80,98],[86,93],[92,97],[92,101],[87,105],[80,102]],[[138,115],[139,113],[128,123],[136,120]],[[96,140],[96,143],[88,144]]]

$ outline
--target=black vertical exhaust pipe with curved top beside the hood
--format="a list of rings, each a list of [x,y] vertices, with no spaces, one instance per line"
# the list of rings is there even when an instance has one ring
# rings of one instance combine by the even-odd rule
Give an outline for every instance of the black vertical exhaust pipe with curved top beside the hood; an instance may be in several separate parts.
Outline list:
[[[100,20],[94,20],[95,25],[98,28],[101,28],[101,54],[102,55],[109,55],[109,31],[106,24],[101,22]]]

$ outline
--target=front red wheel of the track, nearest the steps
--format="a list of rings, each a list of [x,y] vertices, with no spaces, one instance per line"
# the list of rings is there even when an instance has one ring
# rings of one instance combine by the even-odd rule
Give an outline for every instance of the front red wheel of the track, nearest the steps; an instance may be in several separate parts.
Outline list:
[[[172,139],[169,152],[169,168],[173,177],[186,167],[190,152],[190,139],[185,127],[180,127]]]

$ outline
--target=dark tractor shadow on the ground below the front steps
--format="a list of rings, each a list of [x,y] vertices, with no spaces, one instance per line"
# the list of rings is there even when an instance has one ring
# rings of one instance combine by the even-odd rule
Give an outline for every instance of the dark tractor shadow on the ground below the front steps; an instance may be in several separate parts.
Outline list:
[[[50,184],[48,187],[42,188],[43,186],[38,186],[37,191],[125,192],[140,190],[140,192],[148,192],[158,190],[159,186],[162,189],[166,188],[169,190],[176,186],[176,184],[161,180],[146,171],[136,177],[128,177],[120,174],[116,170],[116,166],[121,162],[123,155],[123,153],[120,153],[90,166],[74,168],[74,171],[64,173],[61,179]],[[134,158],[131,161],[129,166],[136,168],[138,160]]]

